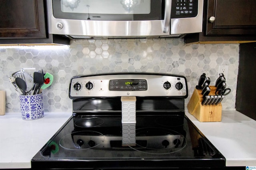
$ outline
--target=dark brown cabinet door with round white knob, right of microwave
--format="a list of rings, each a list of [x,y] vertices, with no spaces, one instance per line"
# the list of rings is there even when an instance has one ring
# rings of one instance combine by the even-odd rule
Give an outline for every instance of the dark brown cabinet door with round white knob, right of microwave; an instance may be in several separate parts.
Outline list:
[[[208,0],[205,35],[256,35],[256,0]],[[210,17],[212,22],[209,21]],[[213,21],[214,20],[214,21]]]

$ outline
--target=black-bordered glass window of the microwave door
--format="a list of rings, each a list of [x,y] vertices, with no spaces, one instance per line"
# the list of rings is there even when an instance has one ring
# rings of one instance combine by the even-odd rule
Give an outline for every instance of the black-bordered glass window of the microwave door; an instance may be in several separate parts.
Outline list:
[[[162,0],[52,0],[53,16],[70,20],[162,20]]]

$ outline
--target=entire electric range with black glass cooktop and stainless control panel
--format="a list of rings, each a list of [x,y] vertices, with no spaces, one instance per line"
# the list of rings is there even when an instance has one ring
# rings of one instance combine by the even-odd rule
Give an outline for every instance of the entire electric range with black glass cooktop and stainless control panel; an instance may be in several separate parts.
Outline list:
[[[136,100],[123,103],[126,96]],[[32,168],[225,167],[224,156],[185,115],[184,76],[76,76],[70,80],[69,97],[72,116],[32,158]]]

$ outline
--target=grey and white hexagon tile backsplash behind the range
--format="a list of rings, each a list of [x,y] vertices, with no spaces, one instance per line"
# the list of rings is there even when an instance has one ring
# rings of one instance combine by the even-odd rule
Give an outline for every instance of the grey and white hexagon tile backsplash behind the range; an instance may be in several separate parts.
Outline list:
[[[6,112],[19,112],[19,94],[8,77],[21,68],[43,69],[54,76],[43,90],[44,111],[72,112],[68,98],[72,76],[104,72],[160,72],[180,74],[188,81],[188,101],[202,70],[211,84],[218,66],[228,65],[227,85],[232,93],[222,102],[234,109],[238,74],[239,44],[185,45],[183,39],[106,39],[71,41],[70,46],[0,47],[0,90],[6,90]]]

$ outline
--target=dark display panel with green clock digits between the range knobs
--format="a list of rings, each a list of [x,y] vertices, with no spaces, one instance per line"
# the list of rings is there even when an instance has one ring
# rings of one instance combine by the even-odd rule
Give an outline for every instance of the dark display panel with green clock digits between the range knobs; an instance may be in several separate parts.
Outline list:
[[[142,91],[148,90],[148,83],[143,79],[110,80],[108,89],[110,91]]]

